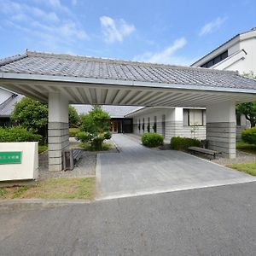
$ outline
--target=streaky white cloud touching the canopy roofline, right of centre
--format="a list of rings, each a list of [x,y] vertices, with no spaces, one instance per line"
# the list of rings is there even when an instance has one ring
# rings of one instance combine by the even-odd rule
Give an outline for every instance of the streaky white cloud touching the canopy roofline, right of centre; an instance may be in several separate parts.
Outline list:
[[[143,55],[137,55],[134,61],[145,61],[151,63],[189,65],[193,60],[175,55],[178,49],[182,49],[187,44],[185,38],[178,38],[173,44],[158,52],[146,52]]]

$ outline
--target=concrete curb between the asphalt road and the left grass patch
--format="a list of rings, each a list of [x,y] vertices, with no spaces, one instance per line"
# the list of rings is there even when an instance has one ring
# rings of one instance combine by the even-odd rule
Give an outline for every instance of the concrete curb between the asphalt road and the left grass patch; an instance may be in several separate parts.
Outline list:
[[[35,210],[42,208],[67,207],[71,205],[84,205],[92,201],[86,200],[42,200],[42,199],[20,199],[20,200],[1,200],[0,212],[18,212],[23,210]]]

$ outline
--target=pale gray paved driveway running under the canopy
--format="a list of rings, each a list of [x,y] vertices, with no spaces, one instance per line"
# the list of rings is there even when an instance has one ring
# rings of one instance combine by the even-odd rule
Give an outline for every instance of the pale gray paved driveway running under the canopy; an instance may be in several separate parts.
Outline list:
[[[198,189],[255,180],[246,173],[218,166],[175,150],[143,147],[130,136],[113,135],[120,153],[98,154],[97,196],[110,199],[132,195]]]

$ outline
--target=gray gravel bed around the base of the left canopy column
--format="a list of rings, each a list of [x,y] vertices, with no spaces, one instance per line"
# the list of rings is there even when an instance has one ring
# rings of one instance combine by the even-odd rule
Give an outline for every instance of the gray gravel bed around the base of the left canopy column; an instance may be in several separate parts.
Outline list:
[[[79,148],[79,142],[73,137],[70,138],[70,148]],[[109,140],[107,143],[112,143]],[[117,149],[113,144],[113,148],[108,151],[83,151],[79,162],[74,167],[73,171],[49,172],[48,171],[48,151],[39,154],[39,180],[53,177],[93,177],[96,175],[96,156],[97,154],[117,153]]]

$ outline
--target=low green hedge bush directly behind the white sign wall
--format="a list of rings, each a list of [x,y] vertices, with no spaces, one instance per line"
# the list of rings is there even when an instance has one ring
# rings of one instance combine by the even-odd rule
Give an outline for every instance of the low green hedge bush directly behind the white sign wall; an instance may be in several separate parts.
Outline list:
[[[39,142],[42,136],[21,126],[0,127],[0,143]]]

